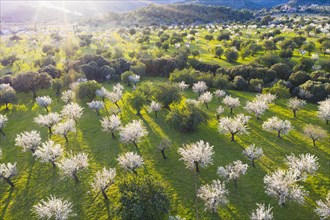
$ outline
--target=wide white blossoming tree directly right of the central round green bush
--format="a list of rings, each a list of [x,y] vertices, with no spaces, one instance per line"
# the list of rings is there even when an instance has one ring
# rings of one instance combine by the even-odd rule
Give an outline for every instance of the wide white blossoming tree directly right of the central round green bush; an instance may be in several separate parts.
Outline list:
[[[230,133],[231,141],[235,141],[235,135],[246,134],[247,123],[249,122],[250,116],[239,114],[233,118],[224,117],[219,121],[219,132],[222,134]]]

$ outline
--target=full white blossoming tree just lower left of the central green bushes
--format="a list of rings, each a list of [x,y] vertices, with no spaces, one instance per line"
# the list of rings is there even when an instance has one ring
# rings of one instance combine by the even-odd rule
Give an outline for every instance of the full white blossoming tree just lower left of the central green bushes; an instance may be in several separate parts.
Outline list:
[[[133,143],[136,148],[138,148],[138,143],[141,139],[148,134],[147,129],[143,126],[141,120],[133,120],[126,126],[120,129],[120,139],[124,143]]]

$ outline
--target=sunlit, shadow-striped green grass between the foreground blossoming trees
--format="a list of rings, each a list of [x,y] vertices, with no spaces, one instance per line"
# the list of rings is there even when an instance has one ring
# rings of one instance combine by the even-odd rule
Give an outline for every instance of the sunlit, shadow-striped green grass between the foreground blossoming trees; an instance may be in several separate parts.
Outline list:
[[[163,78],[148,78],[149,80],[164,80]],[[111,89],[112,85],[105,84],[106,88]],[[131,91],[127,88],[126,91]],[[228,91],[232,96],[239,97],[242,106],[247,100],[251,100],[255,94],[239,91]],[[56,98],[53,92],[46,90],[39,91],[38,95],[51,95]],[[191,90],[185,92],[189,98],[197,98]],[[69,135],[69,144],[65,147],[62,137],[52,136],[56,143],[60,143],[63,148],[73,152],[86,152],[89,154],[90,166],[88,170],[78,174],[81,183],[75,184],[72,179],[63,179],[59,170],[53,169],[51,164],[36,161],[30,152],[22,152],[21,148],[14,145],[16,134],[37,129],[41,132],[43,141],[47,140],[46,128],[41,128],[33,122],[33,118],[38,114],[46,114],[43,108],[37,106],[31,99],[32,94],[19,93],[19,103],[9,111],[1,108],[1,114],[8,116],[8,123],[4,129],[7,136],[0,137],[0,146],[3,150],[1,162],[15,162],[18,165],[18,175],[12,180],[16,187],[10,189],[9,185],[1,182],[0,185],[0,219],[33,219],[31,212],[33,205],[49,195],[64,197],[74,204],[74,213],[77,215],[72,219],[117,219],[114,211],[118,205],[118,191],[116,186],[108,190],[110,203],[105,203],[101,195],[91,191],[90,183],[97,170],[103,166],[116,167],[118,178],[125,178],[127,175],[122,171],[116,162],[119,154],[127,151],[135,151],[132,144],[122,144],[119,138],[112,139],[111,134],[105,133],[101,129],[100,116],[90,110],[86,104],[80,103],[84,107],[84,114],[78,121],[76,134]],[[177,153],[182,144],[192,143],[200,139],[208,141],[214,146],[214,164],[207,169],[202,169],[197,177],[198,186],[210,183],[217,179],[216,169],[224,166],[233,160],[249,161],[242,155],[242,150],[249,144],[255,143],[263,148],[265,156],[256,161],[256,168],[249,167],[247,174],[238,180],[238,190],[235,190],[233,182],[226,184],[230,191],[229,204],[218,209],[216,214],[211,214],[204,210],[203,202],[197,200],[198,216],[200,219],[248,219],[251,211],[256,208],[256,203],[270,203],[274,208],[275,219],[319,219],[313,209],[315,201],[324,199],[329,191],[330,173],[330,141],[329,138],[323,139],[313,147],[312,141],[302,134],[303,126],[306,123],[317,124],[329,130],[329,126],[316,117],[317,106],[307,104],[298,112],[298,117],[293,118],[293,114],[286,108],[287,100],[277,100],[276,105],[271,105],[269,111],[257,120],[254,117],[249,122],[249,134],[237,136],[236,142],[230,142],[229,135],[219,134],[217,131],[217,121],[214,113],[219,106],[216,99],[209,105],[208,114],[211,119],[208,124],[202,125],[196,132],[180,134],[171,128],[166,122],[167,110],[162,110],[158,119],[154,114],[149,114],[146,109],[141,111],[140,117],[135,115],[135,111],[129,106],[125,95],[124,104],[120,102],[122,108],[122,121],[124,124],[133,119],[141,119],[148,129],[148,136],[139,143],[139,154],[142,155],[145,166],[138,170],[139,175],[153,175],[163,182],[169,191],[171,200],[170,213],[181,215],[186,219],[195,218],[195,187],[194,174],[185,168],[180,156]],[[54,101],[51,111],[58,112],[64,103]],[[107,106],[114,107],[107,102]],[[245,113],[242,107],[234,110],[235,113]],[[105,116],[105,112],[101,112]],[[228,116],[226,109],[224,116]],[[294,126],[294,130],[282,139],[278,139],[276,134],[263,131],[262,122],[277,115],[281,119],[288,119]],[[117,135],[118,136],[118,135]],[[161,153],[155,146],[162,137],[168,137],[173,143],[170,151],[166,152],[168,159],[163,160]],[[302,185],[310,192],[306,198],[305,205],[298,205],[288,202],[285,207],[280,207],[277,200],[265,194],[263,177],[270,171],[277,168],[285,168],[283,159],[291,153],[311,153],[319,158],[320,168],[315,176],[309,177]]]

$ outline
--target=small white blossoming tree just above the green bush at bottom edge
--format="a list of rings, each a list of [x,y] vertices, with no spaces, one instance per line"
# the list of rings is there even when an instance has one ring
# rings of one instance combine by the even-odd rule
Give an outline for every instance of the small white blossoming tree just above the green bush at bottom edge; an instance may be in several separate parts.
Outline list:
[[[135,174],[137,174],[136,169],[144,164],[142,157],[134,152],[120,155],[117,161],[124,170],[132,171]]]

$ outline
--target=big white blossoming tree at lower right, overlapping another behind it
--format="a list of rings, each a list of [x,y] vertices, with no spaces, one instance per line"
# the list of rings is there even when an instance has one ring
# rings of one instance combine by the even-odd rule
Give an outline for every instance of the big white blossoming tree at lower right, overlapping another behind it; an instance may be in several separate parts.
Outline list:
[[[276,170],[264,177],[264,183],[266,194],[276,197],[281,206],[288,200],[304,203],[304,197],[308,194],[302,186],[298,185],[296,173],[293,170]]]

